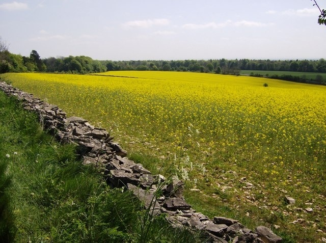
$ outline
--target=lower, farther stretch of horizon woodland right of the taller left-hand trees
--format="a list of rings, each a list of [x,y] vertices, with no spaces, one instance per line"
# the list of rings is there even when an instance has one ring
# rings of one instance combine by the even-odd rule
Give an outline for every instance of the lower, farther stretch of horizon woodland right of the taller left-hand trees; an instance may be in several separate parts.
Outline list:
[[[107,71],[161,70],[238,74],[240,70],[326,72],[326,60],[178,60],[178,61],[102,61]]]

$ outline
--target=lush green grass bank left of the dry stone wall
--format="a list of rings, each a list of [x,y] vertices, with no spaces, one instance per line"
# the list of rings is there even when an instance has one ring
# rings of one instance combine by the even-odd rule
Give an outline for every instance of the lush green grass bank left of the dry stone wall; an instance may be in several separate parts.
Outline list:
[[[35,114],[0,92],[1,242],[201,242],[151,218],[129,192],[42,131]]]

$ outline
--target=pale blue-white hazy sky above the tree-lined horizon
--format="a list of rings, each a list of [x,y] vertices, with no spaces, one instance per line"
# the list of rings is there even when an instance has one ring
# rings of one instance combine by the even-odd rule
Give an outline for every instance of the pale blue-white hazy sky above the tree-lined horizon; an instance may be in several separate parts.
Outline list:
[[[0,36],[42,59],[315,60],[326,58],[318,15],[311,0],[0,0]]]

